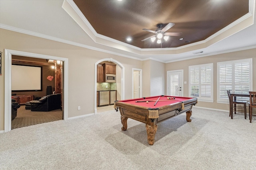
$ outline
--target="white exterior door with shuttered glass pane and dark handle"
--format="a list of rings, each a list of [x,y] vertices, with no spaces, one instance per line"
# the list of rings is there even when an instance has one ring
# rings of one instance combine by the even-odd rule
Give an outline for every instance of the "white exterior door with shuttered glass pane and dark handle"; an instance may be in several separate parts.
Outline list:
[[[183,70],[167,71],[167,95],[183,96]]]

